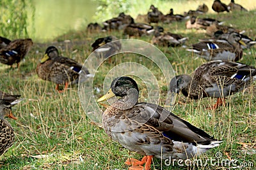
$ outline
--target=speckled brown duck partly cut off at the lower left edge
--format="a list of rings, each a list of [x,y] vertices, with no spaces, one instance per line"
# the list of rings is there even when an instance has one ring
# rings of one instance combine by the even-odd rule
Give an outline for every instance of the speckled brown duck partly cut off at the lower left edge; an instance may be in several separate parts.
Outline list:
[[[17,120],[12,113],[12,106],[19,103],[20,95],[11,95],[0,91],[0,155],[3,155],[8,148],[13,145],[14,131],[12,125],[5,119],[5,117]]]

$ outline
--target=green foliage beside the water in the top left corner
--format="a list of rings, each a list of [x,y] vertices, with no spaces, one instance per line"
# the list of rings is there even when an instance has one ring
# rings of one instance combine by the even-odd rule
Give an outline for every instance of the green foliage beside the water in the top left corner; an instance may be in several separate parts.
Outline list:
[[[32,0],[1,0],[0,34],[7,38],[28,37],[28,13]]]

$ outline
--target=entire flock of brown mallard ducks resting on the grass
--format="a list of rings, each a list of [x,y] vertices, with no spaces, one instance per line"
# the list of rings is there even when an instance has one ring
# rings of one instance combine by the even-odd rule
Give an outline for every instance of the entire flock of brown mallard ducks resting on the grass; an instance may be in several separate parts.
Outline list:
[[[225,5],[219,0],[212,4],[216,12],[247,11],[243,6],[234,3]],[[170,23],[188,20],[186,27],[208,29],[214,35],[212,39],[200,39],[187,50],[208,60],[198,67],[189,76],[182,74],[170,81],[170,90],[173,93],[182,92],[191,99],[202,97],[216,97],[217,103],[210,109],[216,109],[225,103],[225,97],[235,94],[248,87],[256,78],[256,68],[236,62],[243,57],[243,48],[251,48],[256,42],[244,36],[241,31],[227,27],[222,22],[212,18],[198,18],[195,15],[206,13],[208,7],[203,4],[198,9],[190,10],[184,15],[170,13],[163,15],[154,5],[147,13],[147,22],[135,23],[130,15],[120,13],[118,17],[99,24],[89,24],[88,32],[122,30],[125,35],[143,36],[153,34],[152,43],[158,46],[180,46],[188,39],[179,34],[164,32],[163,27],[153,27],[151,23]],[[142,17],[140,15],[139,17]],[[189,19],[188,19],[189,18]],[[214,29],[213,29],[214,28]],[[115,36],[96,39],[92,44],[93,51],[99,57],[108,57],[109,50],[119,51],[122,45]],[[112,42],[112,43],[110,43]],[[106,49],[99,48],[105,45]],[[24,59],[33,45],[31,39],[16,39],[10,41],[0,37],[0,62],[10,65],[17,64]],[[88,69],[76,60],[63,57],[55,46],[49,46],[44,57],[36,67],[40,78],[56,83],[56,90],[63,92],[69,84],[77,83],[79,74],[90,76]],[[86,80],[86,78],[84,78]],[[64,85],[60,90],[59,85]],[[111,104],[102,115],[103,127],[114,141],[117,141],[132,152],[145,155],[142,160],[127,159],[125,164],[129,169],[150,169],[152,157],[159,159],[191,159],[210,148],[219,146],[221,140],[214,139],[201,129],[189,124],[163,107],[152,103],[139,103],[139,90],[135,80],[128,76],[115,78],[107,94],[100,97],[98,102],[105,101],[113,96],[121,97]],[[0,91],[0,154],[3,154],[13,144],[13,129],[4,117],[16,119],[12,115],[11,107],[19,103],[19,95],[12,95]],[[161,118],[166,117],[164,120]],[[143,167],[145,164],[145,167]]]

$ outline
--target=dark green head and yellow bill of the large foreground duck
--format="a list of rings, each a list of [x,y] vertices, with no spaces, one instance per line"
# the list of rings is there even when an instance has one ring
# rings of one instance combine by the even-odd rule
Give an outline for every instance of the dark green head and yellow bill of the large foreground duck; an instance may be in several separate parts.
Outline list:
[[[114,96],[124,97],[127,96],[129,92],[134,91],[139,93],[138,85],[135,80],[127,76],[118,77],[112,81],[111,88],[107,94],[98,99],[98,102],[105,101]]]

